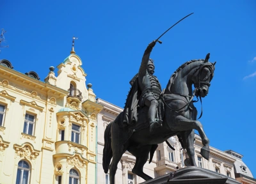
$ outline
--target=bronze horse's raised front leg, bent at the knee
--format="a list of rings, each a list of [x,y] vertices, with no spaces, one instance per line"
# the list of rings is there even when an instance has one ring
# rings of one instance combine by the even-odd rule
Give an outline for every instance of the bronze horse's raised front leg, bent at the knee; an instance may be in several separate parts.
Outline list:
[[[202,138],[202,144],[204,145],[203,148],[201,148],[200,154],[205,159],[209,159],[210,155],[210,148],[209,148],[209,139],[204,133],[203,125],[200,123],[200,121],[191,120],[188,118],[185,118],[184,116],[176,116],[174,122],[171,125],[172,131],[186,131],[195,129],[198,131]]]

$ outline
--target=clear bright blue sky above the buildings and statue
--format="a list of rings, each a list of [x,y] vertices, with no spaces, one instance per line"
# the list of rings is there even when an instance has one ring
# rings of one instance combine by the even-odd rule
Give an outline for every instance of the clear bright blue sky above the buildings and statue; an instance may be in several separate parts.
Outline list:
[[[210,52],[216,63],[200,119],[211,146],[234,150],[256,177],[256,1],[7,1],[0,2],[0,28],[14,70],[35,71],[42,81],[75,50],[98,98],[124,107],[129,81],[148,43],[179,19],[154,47],[155,75],[170,75]],[[57,72],[56,72],[57,73]],[[200,111],[200,104],[197,104]]]

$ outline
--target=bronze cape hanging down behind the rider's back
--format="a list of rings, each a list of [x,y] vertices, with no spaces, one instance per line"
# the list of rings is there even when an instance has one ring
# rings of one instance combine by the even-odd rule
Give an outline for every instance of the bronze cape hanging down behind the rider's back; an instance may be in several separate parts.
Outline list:
[[[124,111],[120,114],[119,118],[122,118],[120,127],[126,127],[128,125],[136,125],[138,121],[138,104],[141,96],[141,90],[139,88],[138,73],[130,81],[131,89],[127,95]]]

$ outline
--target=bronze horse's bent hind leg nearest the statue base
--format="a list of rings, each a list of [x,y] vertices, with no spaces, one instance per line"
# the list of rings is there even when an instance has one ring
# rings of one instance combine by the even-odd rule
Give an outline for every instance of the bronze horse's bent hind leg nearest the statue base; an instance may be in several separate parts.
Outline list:
[[[151,145],[142,146],[138,150],[136,150],[136,153],[134,154],[134,151],[132,151],[132,155],[136,157],[136,163],[132,169],[132,173],[140,176],[144,180],[151,180],[152,178],[148,176],[147,174],[143,173],[143,166],[148,160],[148,153],[151,149]]]

